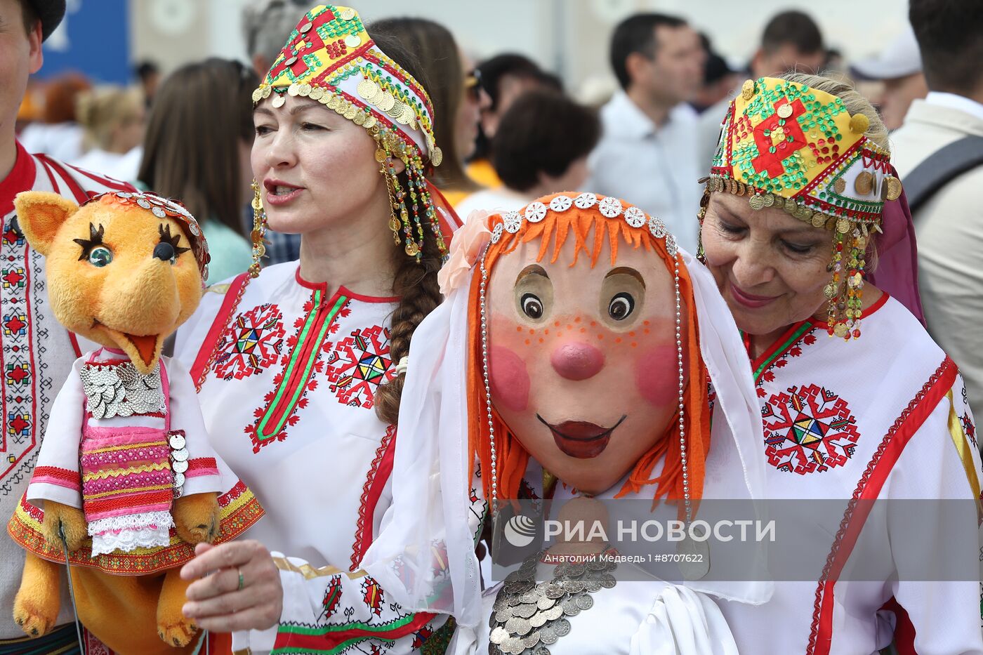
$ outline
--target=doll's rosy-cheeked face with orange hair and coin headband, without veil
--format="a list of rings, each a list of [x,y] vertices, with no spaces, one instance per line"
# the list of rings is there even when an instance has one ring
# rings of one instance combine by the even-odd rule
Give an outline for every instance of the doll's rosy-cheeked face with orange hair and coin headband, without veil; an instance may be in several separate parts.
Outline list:
[[[469,387],[485,405],[475,415],[488,415],[471,435],[495,472],[492,497],[517,497],[529,456],[587,494],[630,474],[624,491],[698,495],[707,383],[689,366],[700,360],[692,289],[662,221],[585,193],[493,215],[489,227],[471,294],[482,320],[470,368],[482,376]]]

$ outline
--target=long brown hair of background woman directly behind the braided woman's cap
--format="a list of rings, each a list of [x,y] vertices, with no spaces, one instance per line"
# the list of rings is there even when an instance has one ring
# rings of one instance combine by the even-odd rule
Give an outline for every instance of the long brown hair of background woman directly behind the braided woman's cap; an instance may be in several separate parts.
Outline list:
[[[368,30],[382,52],[396,59],[378,40],[380,35],[389,35],[413,52],[427,69],[430,85],[424,89],[434,103],[434,139],[443,150],[443,162],[434,168],[431,181],[442,191],[476,190],[478,185],[468,177],[457,154],[455,126],[464,98],[465,72],[454,36],[438,23],[417,18],[376,21]],[[417,81],[424,84],[419,78]]]

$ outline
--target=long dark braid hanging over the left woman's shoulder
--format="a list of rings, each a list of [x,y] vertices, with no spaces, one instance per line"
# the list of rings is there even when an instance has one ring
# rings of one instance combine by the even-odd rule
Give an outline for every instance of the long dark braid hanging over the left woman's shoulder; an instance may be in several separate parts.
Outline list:
[[[400,297],[399,305],[392,313],[389,332],[389,357],[395,365],[410,352],[410,339],[417,326],[440,304],[440,286],[436,273],[440,269],[440,252],[434,234],[427,230],[424,236],[422,258],[414,259],[399,252],[402,258],[392,281],[393,292]],[[376,416],[390,425],[399,420],[399,399],[403,394],[404,374],[376,389]]]

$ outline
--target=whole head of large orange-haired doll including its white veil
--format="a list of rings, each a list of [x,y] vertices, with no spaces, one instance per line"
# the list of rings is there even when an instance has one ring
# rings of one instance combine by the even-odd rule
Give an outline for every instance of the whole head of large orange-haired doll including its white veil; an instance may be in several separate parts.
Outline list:
[[[475,212],[439,279],[446,300],[414,333],[403,387],[397,518],[363,561],[404,607],[477,625],[476,535],[461,519],[477,511],[476,475],[492,514],[521,498],[538,472],[530,456],[588,495],[761,498],[761,409],[740,335],[710,272],[661,220],[586,193]],[[689,504],[676,509],[690,518]],[[767,591],[723,597],[760,603]]]

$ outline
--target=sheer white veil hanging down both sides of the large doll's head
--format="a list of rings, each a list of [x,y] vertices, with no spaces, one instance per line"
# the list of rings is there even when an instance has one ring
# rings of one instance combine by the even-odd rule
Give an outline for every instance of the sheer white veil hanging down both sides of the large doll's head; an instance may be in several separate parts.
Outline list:
[[[700,348],[717,392],[704,498],[762,499],[761,409],[737,327],[710,272],[680,251],[693,282]],[[399,412],[392,506],[362,566],[407,610],[482,621],[482,588],[468,477],[468,294],[471,276],[413,336]],[[725,419],[725,420],[722,420]],[[724,437],[729,437],[726,439]],[[481,494],[481,485],[478,485]],[[764,568],[761,569],[764,571]],[[765,575],[759,576],[765,580]],[[770,582],[687,583],[729,600],[763,603]]]

